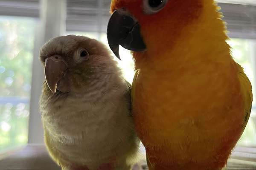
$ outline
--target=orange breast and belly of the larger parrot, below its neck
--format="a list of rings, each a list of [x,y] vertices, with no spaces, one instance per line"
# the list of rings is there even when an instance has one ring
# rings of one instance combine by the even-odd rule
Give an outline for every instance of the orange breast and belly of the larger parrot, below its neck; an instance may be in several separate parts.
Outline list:
[[[226,163],[244,120],[240,84],[230,63],[164,73],[137,71],[134,120],[149,157],[176,165]]]

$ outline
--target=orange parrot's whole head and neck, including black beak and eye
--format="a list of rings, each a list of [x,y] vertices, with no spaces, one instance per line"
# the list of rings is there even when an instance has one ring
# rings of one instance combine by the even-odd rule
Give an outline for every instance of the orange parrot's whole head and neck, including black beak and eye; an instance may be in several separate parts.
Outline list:
[[[224,58],[229,59],[219,9],[214,0],[112,0],[109,46],[117,57],[119,45],[132,51],[135,69],[195,65],[202,59],[216,60],[218,51],[226,51]],[[212,53],[205,56],[205,51]]]

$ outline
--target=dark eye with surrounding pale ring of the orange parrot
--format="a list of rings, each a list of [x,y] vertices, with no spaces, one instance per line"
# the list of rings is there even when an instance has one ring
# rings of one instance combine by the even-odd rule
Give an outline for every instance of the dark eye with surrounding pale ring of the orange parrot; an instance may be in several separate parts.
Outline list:
[[[155,14],[166,6],[168,0],[143,0],[145,14]]]

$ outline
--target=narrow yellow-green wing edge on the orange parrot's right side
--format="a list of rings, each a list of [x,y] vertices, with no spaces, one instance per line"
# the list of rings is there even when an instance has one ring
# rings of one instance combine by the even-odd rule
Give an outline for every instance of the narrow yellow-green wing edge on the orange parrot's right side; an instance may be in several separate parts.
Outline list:
[[[238,78],[241,84],[241,91],[244,98],[245,108],[244,108],[243,127],[245,128],[245,126],[247,125],[248,119],[250,117],[251,109],[252,109],[253,92],[252,92],[252,85],[250,83],[250,80],[244,73],[244,69],[239,64],[237,64],[237,68],[238,68]]]

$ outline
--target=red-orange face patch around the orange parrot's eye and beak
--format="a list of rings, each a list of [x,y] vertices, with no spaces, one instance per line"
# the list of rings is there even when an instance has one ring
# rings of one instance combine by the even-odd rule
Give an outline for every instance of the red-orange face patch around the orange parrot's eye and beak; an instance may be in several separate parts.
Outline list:
[[[182,32],[201,15],[203,0],[168,0],[155,14],[145,14],[144,0],[112,0],[111,12],[125,9],[138,20],[143,40],[150,53],[155,49],[171,48]]]

